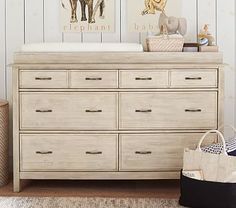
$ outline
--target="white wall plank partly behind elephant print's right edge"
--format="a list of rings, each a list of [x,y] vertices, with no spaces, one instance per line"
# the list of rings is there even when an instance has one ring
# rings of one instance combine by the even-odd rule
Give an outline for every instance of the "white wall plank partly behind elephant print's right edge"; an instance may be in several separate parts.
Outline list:
[[[102,42],[120,42],[120,11],[121,11],[120,0],[115,0],[115,31],[111,33],[102,33]]]

